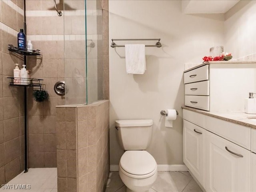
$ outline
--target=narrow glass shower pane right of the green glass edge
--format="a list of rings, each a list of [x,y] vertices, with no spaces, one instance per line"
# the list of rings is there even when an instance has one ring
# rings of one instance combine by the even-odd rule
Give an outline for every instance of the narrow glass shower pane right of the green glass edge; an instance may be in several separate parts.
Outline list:
[[[87,102],[103,99],[102,7],[86,1]]]

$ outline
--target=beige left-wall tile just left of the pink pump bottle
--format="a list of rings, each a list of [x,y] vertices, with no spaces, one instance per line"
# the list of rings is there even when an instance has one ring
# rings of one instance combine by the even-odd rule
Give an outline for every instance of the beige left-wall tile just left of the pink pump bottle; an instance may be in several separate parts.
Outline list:
[[[2,71],[3,75],[13,76],[14,64],[17,63],[17,58],[2,52]]]

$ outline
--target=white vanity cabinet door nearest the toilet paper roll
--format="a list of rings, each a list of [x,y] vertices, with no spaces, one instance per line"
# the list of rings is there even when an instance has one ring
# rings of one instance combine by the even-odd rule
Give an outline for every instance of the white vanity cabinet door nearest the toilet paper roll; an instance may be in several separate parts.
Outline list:
[[[205,188],[205,130],[183,120],[183,162]]]

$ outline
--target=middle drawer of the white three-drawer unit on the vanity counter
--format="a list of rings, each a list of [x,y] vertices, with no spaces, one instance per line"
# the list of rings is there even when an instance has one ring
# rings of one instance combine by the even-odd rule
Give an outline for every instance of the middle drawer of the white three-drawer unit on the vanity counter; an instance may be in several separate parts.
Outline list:
[[[209,85],[209,80],[185,84],[185,95],[209,95]]]

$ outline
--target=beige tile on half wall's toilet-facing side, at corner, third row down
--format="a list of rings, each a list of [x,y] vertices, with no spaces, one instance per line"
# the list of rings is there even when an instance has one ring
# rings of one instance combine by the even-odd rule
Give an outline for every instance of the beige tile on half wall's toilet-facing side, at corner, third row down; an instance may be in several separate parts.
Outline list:
[[[88,173],[88,148],[78,149],[78,176]]]

